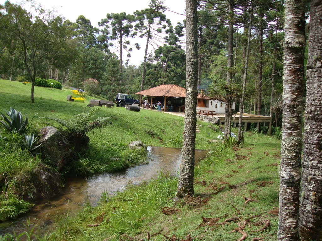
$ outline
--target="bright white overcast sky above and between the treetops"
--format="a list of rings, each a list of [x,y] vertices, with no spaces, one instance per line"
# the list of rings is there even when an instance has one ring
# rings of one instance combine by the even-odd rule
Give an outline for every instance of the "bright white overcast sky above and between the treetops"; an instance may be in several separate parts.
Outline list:
[[[19,3],[20,1],[11,0],[10,2]],[[107,13],[126,12],[127,14],[133,14],[136,10],[148,8],[149,0],[36,0],[36,2],[40,3],[45,9],[55,9],[57,15],[65,17],[71,22],[76,22],[79,15],[84,15],[85,18],[91,21],[91,25],[98,27],[97,23],[102,18],[105,18]],[[5,0],[0,0],[0,4],[4,3]],[[183,22],[185,16],[178,13],[185,14],[185,0],[164,0],[164,5],[170,10],[166,11],[165,14],[171,20],[173,26],[177,22]],[[129,64],[139,65],[143,62],[146,39],[136,38],[130,41],[133,44],[138,42],[141,49],[133,48]],[[151,52],[152,50],[152,47],[149,47],[148,51]],[[119,53],[116,52],[116,54],[118,55]]]

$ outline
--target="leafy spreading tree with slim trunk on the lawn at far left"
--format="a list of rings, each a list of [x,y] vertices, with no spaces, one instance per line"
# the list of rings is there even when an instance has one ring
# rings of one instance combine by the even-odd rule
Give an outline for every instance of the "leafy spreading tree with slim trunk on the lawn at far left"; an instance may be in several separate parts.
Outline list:
[[[34,102],[34,82],[42,61],[55,51],[59,42],[65,40],[64,36],[55,31],[59,29],[55,27],[59,21],[55,22],[52,13],[34,5],[32,7],[33,9],[27,12],[20,5],[5,2],[5,5],[1,6],[3,13],[0,15],[0,21],[5,22],[5,28],[0,31],[7,34],[7,47],[13,46],[11,41],[17,41],[14,46],[24,62],[31,82],[30,99]]]

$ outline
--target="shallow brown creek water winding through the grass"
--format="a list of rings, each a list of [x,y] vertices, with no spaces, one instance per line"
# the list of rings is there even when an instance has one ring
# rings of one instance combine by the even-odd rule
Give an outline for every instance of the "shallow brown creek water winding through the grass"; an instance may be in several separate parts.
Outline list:
[[[208,150],[196,150],[195,160],[205,158]],[[157,176],[158,171],[169,172],[176,175],[181,161],[181,150],[170,147],[148,147],[148,164],[140,164],[115,173],[104,173],[87,178],[73,178],[67,183],[60,196],[45,199],[37,203],[33,210],[23,217],[0,224],[0,235],[5,233],[17,234],[26,231],[26,219],[32,224],[48,230],[53,225],[56,214],[74,213],[80,209],[84,202],[89,201],[95,206],[102,192],[115,192],[122,190],[131,181],[139,184]]]

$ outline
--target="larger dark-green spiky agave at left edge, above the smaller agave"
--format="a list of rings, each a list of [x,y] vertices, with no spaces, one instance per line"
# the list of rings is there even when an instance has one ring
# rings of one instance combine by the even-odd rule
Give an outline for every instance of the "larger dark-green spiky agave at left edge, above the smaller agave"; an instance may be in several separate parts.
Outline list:
[[[0,113],[0,123],[5,127],[8,132],[18,132],[19,134],[23,134],[24,131],[27,129],[28,125],[28,117],[24,120],[23,115],[21,112],[16,111],[15,109],[10,107],[10,111],[6,111],[8,117]]]

